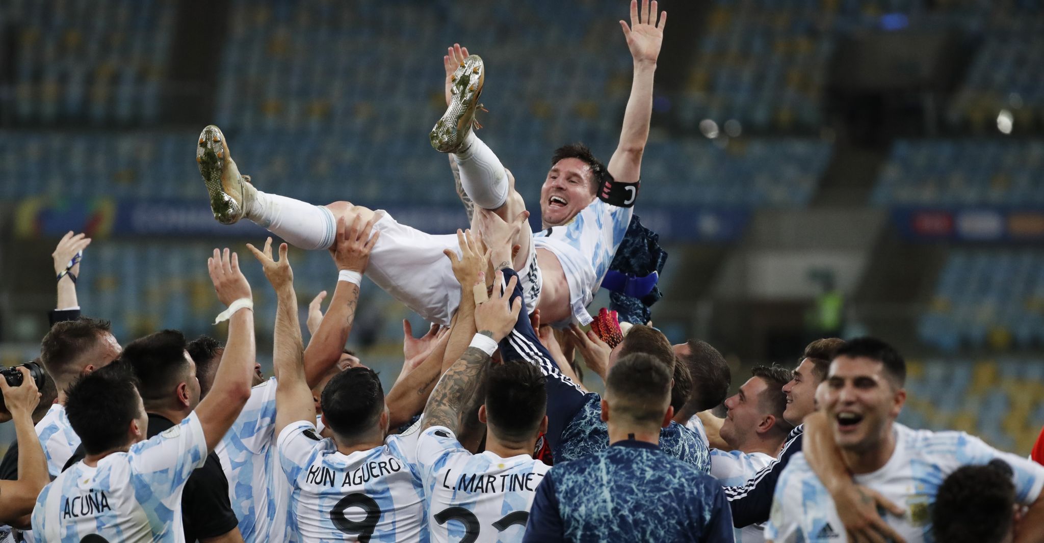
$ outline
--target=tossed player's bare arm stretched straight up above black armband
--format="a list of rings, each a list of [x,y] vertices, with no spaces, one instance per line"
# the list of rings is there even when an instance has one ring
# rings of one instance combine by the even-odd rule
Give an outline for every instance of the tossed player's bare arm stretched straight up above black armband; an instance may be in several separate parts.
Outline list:
[[[635,63],[635,75],[631,83],[631,98],[623,113],[620,144],[609,161],[609,173],[619,182],[638,182],[641,178],[642,153],[645,152],[652,117],[652,77],[666,23],[667,11],[661,13],[656,0],[651,5],[649,0],[642,0],[641,11],[638,10],[638,0],[631,0],[631,26],[620,21]]]

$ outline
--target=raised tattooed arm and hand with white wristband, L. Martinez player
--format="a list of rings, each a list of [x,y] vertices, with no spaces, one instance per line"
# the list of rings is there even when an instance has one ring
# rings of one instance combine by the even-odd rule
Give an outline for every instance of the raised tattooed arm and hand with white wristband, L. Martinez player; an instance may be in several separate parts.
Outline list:
[[[484,275],[484,272],[479,273],[478,280],[474,283],[480,289],[485,288]],[[498,271],[492,296],[489,299],[482,296],[475,300],[478,302],[475,308],[475,325],[479,327],[479,331],[460,359],[450,366],[438,379],[438,385],[435,385],[435,390],[431,392],[428,404],[424,409],[422,430],[431,426],[446,426],[453,434],[459,434],[465,406],[471,402],[478,389],[478,375],[482,367],[491,360],[497,343],[511,334],[522,311],[521,296],[508,301],[517,282],[518,276],[512,276],[507,289],[501,292],[504,274]],[[472,296],[481,295],[476,290]]]

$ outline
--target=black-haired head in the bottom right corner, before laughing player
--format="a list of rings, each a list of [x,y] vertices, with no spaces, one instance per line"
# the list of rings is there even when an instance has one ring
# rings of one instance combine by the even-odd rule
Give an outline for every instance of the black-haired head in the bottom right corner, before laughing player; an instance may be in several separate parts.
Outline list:
[[[1014,511],[1011,466],[1001,460],[984,466],[962,466],[939,487],[931,529],[936,541],[999,543],[1012,529]]]

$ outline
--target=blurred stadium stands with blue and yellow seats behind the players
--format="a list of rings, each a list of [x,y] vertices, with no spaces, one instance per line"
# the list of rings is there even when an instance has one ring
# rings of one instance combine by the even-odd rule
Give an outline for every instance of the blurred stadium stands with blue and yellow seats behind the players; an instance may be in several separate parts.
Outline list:
[[[654,325],[716,346],[734,387],[811,339],[879,336],[909,361],[904,422],[1027,453],[1044,424],[1044,2],[660,5],[636,207],[670,253]],[[616,146],[626,17],[625,0],[0,1],[0,362],[39,352],[71,229],[94,239],[84,312],[121,343],[223,339],[206,258],[239,249],[270,364],[274,296],[242,248],[265,233],[212,219],[199,130],[218,124],[266,192],[450,232],[467,218],[427,133],[454,42],[485,59],[479,135],[539,224],[551,150]],[[290,257],[304,312],[336,269]],[[410,315],[362,292],[349,346],[389,385]]]

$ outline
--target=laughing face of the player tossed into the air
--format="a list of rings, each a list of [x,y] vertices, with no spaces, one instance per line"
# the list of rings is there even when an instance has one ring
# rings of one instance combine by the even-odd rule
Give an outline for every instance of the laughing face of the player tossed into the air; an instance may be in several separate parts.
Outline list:
[[[547,172],[540,189],[540,218],[544,226],[561,226],[594,201],[591,166],[579,158],[563,158]]]

